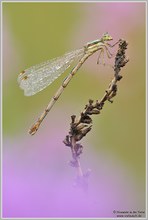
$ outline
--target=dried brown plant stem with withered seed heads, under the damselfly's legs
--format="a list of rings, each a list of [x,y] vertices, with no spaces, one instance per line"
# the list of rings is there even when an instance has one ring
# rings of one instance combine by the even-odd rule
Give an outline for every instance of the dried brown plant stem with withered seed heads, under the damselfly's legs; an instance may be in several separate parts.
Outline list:
[[[100,101],[96,100],[94,102],[92,99],[90,99],[78,118],[76,118],[75,115],[71,116],[70,131],[63,141],[66,146],[71,148],[73,160],[70,161],[70,165],[77,169],[76,184],[85,189],[87,188],[86,177],[89,176],[90,170],[88,170],[85,174],[82,172],[80,155],[82,154],[83,146],[77,142],[86,136],[86,134],[91,130],[91,116],[94,114],[100,114],[106,101],[113,103],[112,99],[117,95],[117,82],[122,79],[122,76],[119,73],[121,68],[124,67],[129,61],[125,56],[127,45],[128,43],[125,40],[119,40],[119,48],[115,56],[113,68],[114,77],[110,82],[108,89],[105,91],[105,94]]]

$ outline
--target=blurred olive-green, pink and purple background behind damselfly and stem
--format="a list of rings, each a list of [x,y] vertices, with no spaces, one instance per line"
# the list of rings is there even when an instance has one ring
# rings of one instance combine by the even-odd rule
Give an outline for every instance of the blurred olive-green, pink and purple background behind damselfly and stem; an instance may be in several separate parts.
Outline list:
[[[113,217],[145,211],[145,3],[3,2],[3,217]],[[42,92],[25,97],[18,74],[42,61],[83,47],[108,31],[128,41],[114,103],[93,116],[81,141],[88,191],[73,187],[75,169],[63,144],[70,116],[88,99],[100,99],[113,69],[97,65],[98,53],[78,71],[39,131],[28,134],[68,69]],[[117,47],[111,49],[114,54]],[[114,58],[106,64],[114,63]],[[115,211],[114,211],[115,210]],[[139,214],[139,213],[138,213]],[[144,214],[142,214],[144,217]]]

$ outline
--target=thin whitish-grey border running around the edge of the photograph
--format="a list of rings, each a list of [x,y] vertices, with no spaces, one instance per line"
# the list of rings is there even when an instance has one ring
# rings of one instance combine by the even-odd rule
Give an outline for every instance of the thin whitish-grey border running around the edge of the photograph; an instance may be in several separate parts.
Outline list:
[[[3,164],[3,157],[2,157],[2,155],[3,155],[3,149],[2,149],[2,144],[3,144],[3,132],[2,132],[2,126],[3,126],[3,123],[2,123],[2,98],[3,98],[3,75],[2,75],[2,70],[3,70],[3,67],[2,67],[2,64],[3,64],[3,59],[2,59],[2,55],[3,55],[3,38],[2,38],[2,29],[3,29],[3,25],[2,25],[2,23],[3,23],[3,10],[2,10],[2,5],[3,5],[3,3],[47,3],[47,2],[49,2],[49,3],[57,3],[57,2],[69,2],[69,3],[71,3],[71,2],[76,2],[76,3],[100,3],[100,2],[103,2],[103,3],[114,3],[114,2],[126,2],[126,3],[137,3],[137,2],[139,2],[139,3],[145,3],[145,9],[146,9],[146,201],[145,201],[145,204],[146,204],[146,210],[145,210],[145,215],[146,215],[146,217],[145,218],[128,218],[128,219],[133,219],[133,220],[135,220],[135,219],[147,219],[147,120],[148,120],[148,118],[147,118],[147,109],[148,109],[148,106],[147,106],[147,104],[148,104],[148,102],[147,102],[147,93],[148,93],[148,89],[147,89],[147,80],[148,80],[148,77],[147,77],[147,46],[148,46],[148,44],[147,44],[147,7],[148,7],[148,5],[147,5],[147,0],[146,1],[144,1],[144,0],[141,0],[141,1],[127,1],[127,0],[121,0],[121,1],[106,1],[106,0],[104,0],[104,1],[79,1],[79,0],[75,0],[75,1],[37,1],[37,0],[34,0],[34,1],[20,1],[20,0],[18,0],[18,1],[7,1],[7,0],[3,0],[3,1],[0,1],[0,10],[1,10],[1,83],[0,83],[0,92],[1,92],[1,99],[0,99],[0,103],[1,103],[1,126],[0,126],[0,133],[1,133],[1,197],[0,197],[0,201],[1,201],[1,207],[0,207],[0,219],[14,219],[14,220],[16,220],[16,219],[41,219],[41,220],[43,220],[43,219],[125,219],[125,218],[29,218],[29,217],[27,217],[27,218],[18,218],[18,217],[15,217],[15,218],[4,218],[4,217],[2,217],[2,164]]]

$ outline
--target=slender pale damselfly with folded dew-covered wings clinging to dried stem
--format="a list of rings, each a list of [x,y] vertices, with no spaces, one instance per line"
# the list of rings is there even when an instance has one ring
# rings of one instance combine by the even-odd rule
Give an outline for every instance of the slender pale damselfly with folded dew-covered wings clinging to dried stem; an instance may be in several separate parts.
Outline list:
[[[94,54],[96,51],[100,51],[97,61],[97,63],[99,63],[100,56],[101,54],[103,54],[104,58],[105,51],[108,58],[111,58],[112,54],[110,53],[108,47],[113,47],[118,42],[114,45],[110,45],[108,43],[108,41],[110,40],[113,40],[113,38],[108,33],[105,33],[100,39],[88,42],[81,49],[66,53],[61,57],[32,66],[19,74],[18,83],[20,85],[20,88],[24,90],[24,94],[26,96],[32,96],[46,88],[55,79],[57,79],[76,58],[79,59],[79,62],[63,81],[62,85],[52,97],[44,112],[41,114],[35,124],[30,128],[29,133],[31,135],[36,133],[41,122],[46,117],[55,102],[58,100],[65,87],[68,85],[72,77],[76,74],[78,69],[82,66],[82,64],[87,60],[89,56]]]

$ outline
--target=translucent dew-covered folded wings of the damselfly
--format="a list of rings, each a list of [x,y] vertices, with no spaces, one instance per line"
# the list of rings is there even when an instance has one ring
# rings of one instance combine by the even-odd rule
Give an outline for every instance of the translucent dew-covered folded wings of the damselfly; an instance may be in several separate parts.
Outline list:
[[[64,54],[52,60],[37,64],[18,76],[18,83],[25,96],[31,96],[43,90],[57,79],[76,59],[84,55],[84,48]]]

